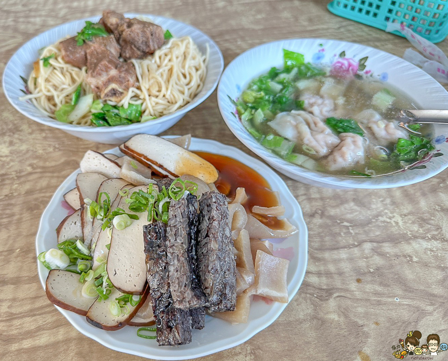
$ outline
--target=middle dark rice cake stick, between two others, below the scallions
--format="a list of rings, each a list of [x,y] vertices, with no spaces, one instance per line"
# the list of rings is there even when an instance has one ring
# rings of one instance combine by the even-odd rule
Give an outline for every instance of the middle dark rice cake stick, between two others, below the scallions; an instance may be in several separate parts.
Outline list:
[[[206,297],[197,274],[198,200],[193,194],[172,200],[167,226],[169,280],[174,306],[184,310],[203,307]]]

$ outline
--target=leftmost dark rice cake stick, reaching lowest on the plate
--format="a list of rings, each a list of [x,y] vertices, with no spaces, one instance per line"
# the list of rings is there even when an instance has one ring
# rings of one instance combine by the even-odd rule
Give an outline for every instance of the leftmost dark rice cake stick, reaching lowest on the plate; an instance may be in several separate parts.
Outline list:
[[[149,296],[160,346],[191,342],[190,311],[173,306],[168,279],[166,227],[162,222],[143,226]]]

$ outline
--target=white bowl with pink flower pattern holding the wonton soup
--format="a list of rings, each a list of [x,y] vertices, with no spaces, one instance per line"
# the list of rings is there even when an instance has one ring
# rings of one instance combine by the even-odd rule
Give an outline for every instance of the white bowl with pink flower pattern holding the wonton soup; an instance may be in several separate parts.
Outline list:
[[[277,171],[304,183],[333,188],[390,188],[424,181],[448,167],[448,125],[434,127],[433,143],[443,157],[433,158],[425,164],[425,169],[414,169],[388,176],[353,178],[330,176],[312,172],[288,163],[263,148],[235,117],[235,108],[228,99],[237,99],[242,90],[255,77],[267,72],[271,67],[283,66],[282,49],[305,55],[305,61],[329,63],[332,66],[357,66],[358,60],[368,57],[365,62],[366,75],[387,81],[410,98],[420,109],[448,109],[448,93],[434,78],[407,61],[368,46],[328,39],[291,39],[259,45],[240,54],[225,68],[218,85],[218,105],[225,123],[233,134],[252,152],[263,158]],[[345,52],[345,59],[339,54]]]

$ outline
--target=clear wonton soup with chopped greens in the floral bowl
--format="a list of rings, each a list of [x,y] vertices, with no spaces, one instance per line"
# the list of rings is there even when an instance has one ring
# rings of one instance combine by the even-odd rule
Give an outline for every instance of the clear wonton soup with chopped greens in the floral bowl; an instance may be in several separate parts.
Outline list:
[[[272,68],[253,79],[235,105],[262,146],[317,172],[384,175],[411,168],[434,151],[431,125],[406,129],[394,120],[399,110],[417,108],[412,99],[357,74],[341,77],[307,63]]]

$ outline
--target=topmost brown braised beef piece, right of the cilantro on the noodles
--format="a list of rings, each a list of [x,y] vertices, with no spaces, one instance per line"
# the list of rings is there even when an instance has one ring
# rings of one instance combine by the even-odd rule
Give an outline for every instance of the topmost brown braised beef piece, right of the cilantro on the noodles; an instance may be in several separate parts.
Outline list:
[[[113,33],[121,47],[121,57],[125,60],[145,58],[165,42],[163,29],[159,25],[129,19],[112,10],[103,11],[100,23]]]

